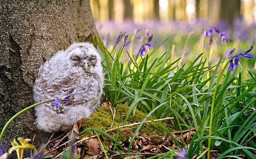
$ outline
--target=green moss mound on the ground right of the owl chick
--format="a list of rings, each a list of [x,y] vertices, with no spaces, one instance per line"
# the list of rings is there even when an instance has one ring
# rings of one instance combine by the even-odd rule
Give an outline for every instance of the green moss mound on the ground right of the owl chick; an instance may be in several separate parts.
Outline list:
[[[115,115],[115,119],[114,119],[114,123],[113,123],[112,128],[118,127],[118,121],[119,121],[119,126],[127,125],[127,124],[133,124],[135,122],[141,122],[142,121],[142,119],[144,117],[142,117],[140,114],[147,115],[145,113],[142,113],[139,110],[136,110],[135,115],[133,116],[133,113],[131,113],[128,117],[128,120],[125,121],[126,113],[129,109],[129,107],[127,105],[124,105],[124,104],[118,104],[115,109],[116,109],[116,115]],[[114,112],[113,108],[112,108],[112,111]],[[153,116],[150,116],[149,118],[155,120],[155,118]],[[96,129],[107,131],[107,130],[110,129],[112,120],[113,120],[113,116],[112,116],[110,107],[102,106],[102,107],[98,108],[95,111],[95,113],[93,113],[90,116],[90,118],[82,120],[81,129],[83,130],[83,129],[86,129],[86,128],[89,128],[89,127],[93,127],[93,128],[96,128]],[[132,127],[124,127],[124,128],[119,129],[119,132],[121,130],[124,130],[124,129],[130,129],[130,131],[134,132],[137,129],[137,127],[138,127],[138,125],[134,125]],[[117,129],[115,131],[112,131],[111,135],[116,136],[116,133],[117,133]],[[142,127],[140,128],[139,134],[147,134],[149,136],[150,135],[163,136],[165,133],[156,124],[151,122],[151,123],[143,124]],[[95,132],[86,131],[85,134],[83,134],[82,137],[92,136],[92,135],[95,135]],[[126,137],[126,136],[123,136],[123,135],[119,135],[119,137],[120,137],[119,139],[121,141],[129,138],[129,137]]]

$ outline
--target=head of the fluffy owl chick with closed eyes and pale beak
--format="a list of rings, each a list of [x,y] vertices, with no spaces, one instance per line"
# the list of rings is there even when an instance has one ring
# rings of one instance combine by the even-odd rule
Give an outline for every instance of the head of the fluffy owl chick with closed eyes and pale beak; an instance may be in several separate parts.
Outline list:
[[[75,67],[91,73],[102,72],[101,58],[93,44],[73,43],[66,51],[67,58]]]

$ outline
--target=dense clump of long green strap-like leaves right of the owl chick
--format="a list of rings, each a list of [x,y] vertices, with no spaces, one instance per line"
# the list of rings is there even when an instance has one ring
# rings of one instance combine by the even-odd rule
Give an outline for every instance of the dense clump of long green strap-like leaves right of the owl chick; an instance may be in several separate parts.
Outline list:
[[[195,154],[203,159],[209,158],[206,153],[209,150],[219,150],[221,155],[218,158],[241,158],[242,154],[255,158],[256,144],[252,138],[256,133],[255,71],[248,70],[250,78],[242,80],[237,68],[234,72],[226,71],[228,62],[224,62],[224,57],[216,65],[208,66],[203,53],[179,67],[181,59],[172,59],[172,44],[167,45],[167,50],[158,58],[153,58],[153,55],[159,47],[135,58],[124,51],[123,44],[117,51],[108,51],[102,45],[104,51],[98,50],[106,78],[103,98],[113,106],[119,103],[130,106],[126,120],[139,109],[147,114],[142,123],[151,120],[150,115],[158,119],[175,117],[178,119],[173,125],[176,129],[196,129],[190,143],[183,139],[183,144],[180,144],[173,137],[180,149],[188,150],[187,158]],[[125,53],[129,59],[123,61],[120,57]],[[142,123],[135,130],[131,143]],[[155,123],[172,136],[165,127]],[[117,143],[116,139],[113,141]],[[204,150],[203,146],[208,148]],[[122,149],[120,145],[119,148]],[[130,148],[131,144],[128,152]],[[163,156],[170,154],[172,151]]]

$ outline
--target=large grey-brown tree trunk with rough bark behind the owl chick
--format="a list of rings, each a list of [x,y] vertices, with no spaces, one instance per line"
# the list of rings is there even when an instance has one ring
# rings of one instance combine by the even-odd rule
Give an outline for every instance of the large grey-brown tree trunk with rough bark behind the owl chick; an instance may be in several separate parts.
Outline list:
[[[0,130],[13,115],[34,104],[32,88],[40,65],[76,41],[75,31],[80,41],[97,35],[89,0],[0,1]],[[34,109],[30,109],[9,124],[0,156],[14,138],[32,139],[36,134],[37,147],[47,141],[50,134],[39,131],[35,119]],[[27,149],[24,157],[29,156]]]

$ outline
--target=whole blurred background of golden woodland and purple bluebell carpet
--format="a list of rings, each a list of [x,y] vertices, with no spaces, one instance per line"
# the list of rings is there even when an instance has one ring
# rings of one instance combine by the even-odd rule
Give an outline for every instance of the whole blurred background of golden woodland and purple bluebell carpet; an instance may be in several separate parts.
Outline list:
[[[212,65],[232,48],[238,53],[256,44],[256,0],[90,0],[90,5],[97,30],[109,50],[115,48],[120,32],[126,32],[132,41],[126,50],[137,56],[149,34],[153,35],[153,48],[169,38],[157,55],[173,45],[173,59],[184,56],[184,64],[202,52],[205,58],[209,57],[212,43],[208,37],[204,40],[203,35],[213,26],[232,41],[222,44],[218,40],[214,44]],[[213,33],[213,43],[218,36]],[[254,49],[254,58],[241,62],[243,68],[256,68]],[[128,59],[127,54],[122,56]]]

